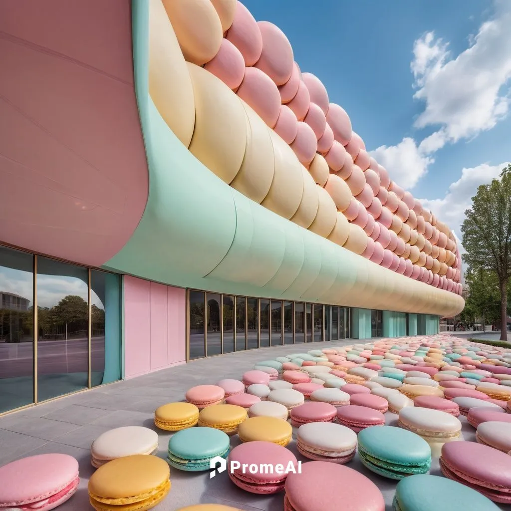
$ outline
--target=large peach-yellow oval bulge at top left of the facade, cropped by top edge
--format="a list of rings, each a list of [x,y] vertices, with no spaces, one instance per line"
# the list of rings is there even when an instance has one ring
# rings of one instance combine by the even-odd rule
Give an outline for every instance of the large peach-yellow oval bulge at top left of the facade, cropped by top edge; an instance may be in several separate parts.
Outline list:
[[[220,49],[222,23],[210,0],[163,0],[185,60],[201,66]]]

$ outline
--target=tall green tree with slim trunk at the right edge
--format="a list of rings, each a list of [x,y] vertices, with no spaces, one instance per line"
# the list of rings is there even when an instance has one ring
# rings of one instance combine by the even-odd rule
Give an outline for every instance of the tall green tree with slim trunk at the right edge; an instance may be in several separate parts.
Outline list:
[[[461,226],[463,261],[470,269],[494,271],[500,293],[500,339],[507,341],[507,285],[511,277],[511,165],[500,179],[482,184]]]

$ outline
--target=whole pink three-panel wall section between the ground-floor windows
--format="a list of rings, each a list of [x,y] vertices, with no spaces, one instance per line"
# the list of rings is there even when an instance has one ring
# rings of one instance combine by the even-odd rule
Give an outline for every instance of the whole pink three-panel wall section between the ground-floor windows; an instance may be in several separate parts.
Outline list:
[[[186,358],[184,289],[124,277],[124,376],[132,378]]]

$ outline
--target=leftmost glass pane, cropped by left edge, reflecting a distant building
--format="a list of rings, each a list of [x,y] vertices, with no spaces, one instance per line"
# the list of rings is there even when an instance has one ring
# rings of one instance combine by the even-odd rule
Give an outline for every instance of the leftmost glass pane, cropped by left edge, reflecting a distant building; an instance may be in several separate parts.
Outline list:
[[[32,254],[0,247],[0,413],[34,401],[33,265]]]

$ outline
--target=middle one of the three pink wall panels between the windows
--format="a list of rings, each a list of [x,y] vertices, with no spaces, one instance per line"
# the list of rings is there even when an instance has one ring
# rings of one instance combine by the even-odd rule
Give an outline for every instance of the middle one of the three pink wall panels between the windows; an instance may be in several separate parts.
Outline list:
[[[168,364],[168,333],[167,286],[151,282],[151,369]]]

